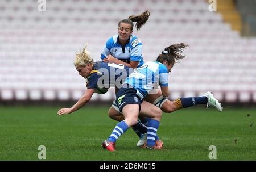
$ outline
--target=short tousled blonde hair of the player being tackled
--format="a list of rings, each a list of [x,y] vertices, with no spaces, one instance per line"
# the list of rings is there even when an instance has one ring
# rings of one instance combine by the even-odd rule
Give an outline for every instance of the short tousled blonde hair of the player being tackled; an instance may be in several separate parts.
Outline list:
[[[74,65],[77,66],[86,66],[88,64],[93,64],[93,58],[90,56],[90,52],[86,49],[87,45],[82,48],[80,53],[76,52],[76,57],[74,60]]]

